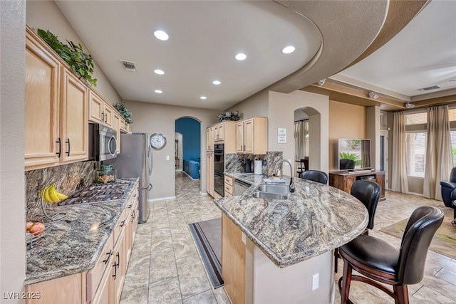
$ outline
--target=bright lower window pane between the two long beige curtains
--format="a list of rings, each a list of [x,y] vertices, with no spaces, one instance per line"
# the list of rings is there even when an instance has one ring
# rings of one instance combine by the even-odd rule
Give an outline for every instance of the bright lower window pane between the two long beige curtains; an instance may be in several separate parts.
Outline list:
[[[407,175],[425,177],[426,132],[408,132],[405,135],[407,151]]]

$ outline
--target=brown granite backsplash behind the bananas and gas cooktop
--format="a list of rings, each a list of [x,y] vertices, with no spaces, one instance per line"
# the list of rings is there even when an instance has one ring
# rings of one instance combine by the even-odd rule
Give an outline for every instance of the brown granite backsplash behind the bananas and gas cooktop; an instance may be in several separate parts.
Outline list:
[[[27,221],[38,221],[43,216],[39,192],[46,184],[54,183],[58,192],[71,196],[76,193],[76,188],[93,184],[95,170],[98,167],[98,162],[88,161],[26,171]]]

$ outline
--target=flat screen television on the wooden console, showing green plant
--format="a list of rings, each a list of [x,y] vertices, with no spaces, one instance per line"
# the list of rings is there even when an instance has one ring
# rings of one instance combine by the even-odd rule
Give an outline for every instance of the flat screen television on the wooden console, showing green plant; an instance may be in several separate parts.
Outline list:
[[[338,169],[371,169],[371,140],[339,138]]]

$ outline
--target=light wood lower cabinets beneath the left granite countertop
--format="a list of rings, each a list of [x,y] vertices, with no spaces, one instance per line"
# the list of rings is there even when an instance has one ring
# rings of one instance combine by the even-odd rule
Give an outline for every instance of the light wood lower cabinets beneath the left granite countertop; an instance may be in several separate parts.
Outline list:
[[[26,303],[119,303],[138,225],[138,193],[136,187],[90,271],[26,285],[28,294],[39,295]]]

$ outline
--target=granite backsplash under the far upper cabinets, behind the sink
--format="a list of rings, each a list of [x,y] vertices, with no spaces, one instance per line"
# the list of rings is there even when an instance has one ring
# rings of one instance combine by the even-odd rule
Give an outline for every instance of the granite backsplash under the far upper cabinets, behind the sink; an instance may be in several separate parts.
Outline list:
[[[262,166],[261,174],[270,176],[274,172],[274,166],[279,159],[283,158],[283,152],[277,151],[268,151],[266,154],[237,154],[237,153],[228,153],[225,154],[225,171],[226,172],[243,172],[244,165],[242,164],[242,159],[250,159],[252,161],[252,172],[254,169],[254,160],[266,160],[266,165]]]

